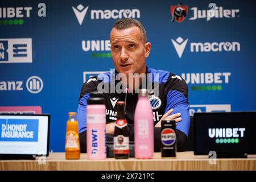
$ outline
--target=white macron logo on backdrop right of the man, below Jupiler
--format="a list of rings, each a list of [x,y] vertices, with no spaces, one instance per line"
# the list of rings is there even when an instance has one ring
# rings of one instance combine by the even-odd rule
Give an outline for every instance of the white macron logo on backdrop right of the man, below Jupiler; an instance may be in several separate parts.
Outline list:
[[[171,39],[172,44],[177,52],[177,55],[181,58],[184,49],[187,46],[188,39],[184,40],[179,36],[176,40]],[[239,42],[191,42],[191,52],[222,52],[222,51],[240,51]]]

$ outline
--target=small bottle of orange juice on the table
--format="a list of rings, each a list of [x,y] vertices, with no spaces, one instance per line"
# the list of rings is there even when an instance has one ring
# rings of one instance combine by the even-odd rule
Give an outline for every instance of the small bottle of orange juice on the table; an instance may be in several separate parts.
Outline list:
[[[80,159],[78,123],[75,112],[68,113],[65,156],[66,159]]]

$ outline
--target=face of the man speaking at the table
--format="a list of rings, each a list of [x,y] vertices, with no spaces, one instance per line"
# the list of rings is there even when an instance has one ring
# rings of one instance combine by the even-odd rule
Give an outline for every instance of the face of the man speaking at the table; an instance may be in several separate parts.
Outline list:
[[[143,42],[142,32],[138,27],[125,30],[113,28],[110,34],[111,53],[118,73],[146,73],[146,57],[151,44]]]

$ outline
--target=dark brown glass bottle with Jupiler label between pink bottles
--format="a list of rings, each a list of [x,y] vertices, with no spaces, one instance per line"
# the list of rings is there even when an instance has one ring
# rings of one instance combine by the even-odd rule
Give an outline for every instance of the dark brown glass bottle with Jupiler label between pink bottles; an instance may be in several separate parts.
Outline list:
[[[115,159],[129,158],[129,135],[125,119],[125,102],[117,102],[117,120],[114,130],[114,157]]]

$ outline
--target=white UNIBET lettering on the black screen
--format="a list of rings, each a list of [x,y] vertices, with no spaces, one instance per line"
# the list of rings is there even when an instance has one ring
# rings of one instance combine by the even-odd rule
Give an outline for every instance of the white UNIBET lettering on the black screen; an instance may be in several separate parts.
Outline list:
[[[208,135],[210,138],[230,138],[230,137],[243,137],[245,128],[216,128],[208,129]]]

